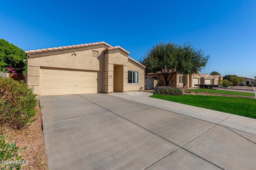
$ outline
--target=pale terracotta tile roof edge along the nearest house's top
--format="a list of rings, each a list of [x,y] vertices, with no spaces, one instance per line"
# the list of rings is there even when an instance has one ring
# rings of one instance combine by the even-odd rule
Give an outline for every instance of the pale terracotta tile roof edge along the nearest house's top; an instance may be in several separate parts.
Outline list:
[[[29,53],[39,53],[39,52],[45,52],[45,51],[53,51],[53,50],[60,50],[60,49],[69,49],[69,48],[76,48],[76,47],[85,47],[85,46],[90,46],[90,45],[99,45],[99,44],[105,44],[109,48],[112,46],[109,45],[108,43],[105,43],[104,41],[102,42],[96,42],[96,43],[87,43],[87,44],[79,44],[79,45],[68,45],[68,46],[62,46],[62,47],[52,47],[52,48],[47,48],[47,49],[36,49],[36,50],[29,50],[25,51],[26,54]],[[119,46],[118,46],[119,47]],[[123,49],[120,47],[120,49]],[[124,50],[124,49],[123,49]],[[126,51],[126,50],[124,50]],[[128,52],[128,51],[127,51]],[[129,53],[129,52],[128,52]]]

